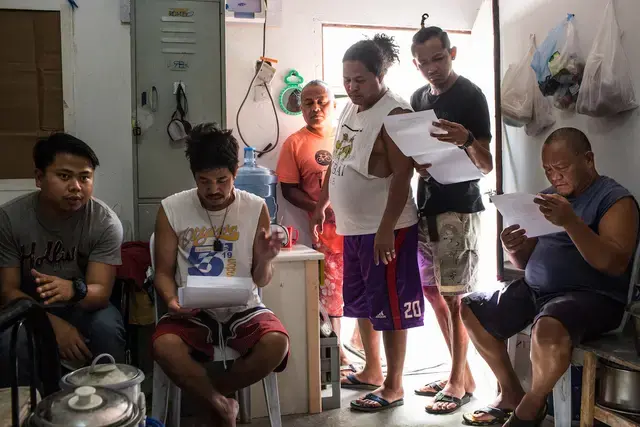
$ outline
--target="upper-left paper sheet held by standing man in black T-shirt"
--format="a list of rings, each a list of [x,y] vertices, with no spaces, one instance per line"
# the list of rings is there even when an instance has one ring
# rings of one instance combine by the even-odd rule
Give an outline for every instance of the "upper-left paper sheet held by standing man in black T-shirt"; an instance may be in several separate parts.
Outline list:
[[[388,116],[384,119],[384,127],[400,151],[407,157],[413,157],[445,149],[446,145],[452,146],[431,137],[432,132],[446,134],[433,126],[433,122],[437,121],[433,110],[427,110]]]

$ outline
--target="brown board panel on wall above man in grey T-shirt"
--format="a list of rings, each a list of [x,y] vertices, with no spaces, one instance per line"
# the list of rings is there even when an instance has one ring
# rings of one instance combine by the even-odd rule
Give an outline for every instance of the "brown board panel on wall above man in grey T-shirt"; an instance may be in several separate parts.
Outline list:
[[[64,130],[60,14],[0,10],[0,179],[33,177],[38,138]]]

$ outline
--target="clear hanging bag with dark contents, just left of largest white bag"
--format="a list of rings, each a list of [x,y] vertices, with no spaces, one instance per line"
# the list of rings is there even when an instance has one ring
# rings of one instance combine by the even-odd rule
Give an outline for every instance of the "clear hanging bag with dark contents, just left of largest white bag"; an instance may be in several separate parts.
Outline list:
[[[549,59],[551,78],[558,85],[553,94],[553,105],[561,110],[575,108],[585,67],[573,15],[567,19],[564,44]]]

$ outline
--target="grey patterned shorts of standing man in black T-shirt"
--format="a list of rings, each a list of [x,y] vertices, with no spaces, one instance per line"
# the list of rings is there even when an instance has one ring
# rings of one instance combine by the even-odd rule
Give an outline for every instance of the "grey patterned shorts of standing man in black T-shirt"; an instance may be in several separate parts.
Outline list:
[[[418,229],[418,264],[422,286],[438,286],[443,296],[471,292],[478,280],[480,213],[446,212],[436,218],[439,240],[431,241],[427,219]]]

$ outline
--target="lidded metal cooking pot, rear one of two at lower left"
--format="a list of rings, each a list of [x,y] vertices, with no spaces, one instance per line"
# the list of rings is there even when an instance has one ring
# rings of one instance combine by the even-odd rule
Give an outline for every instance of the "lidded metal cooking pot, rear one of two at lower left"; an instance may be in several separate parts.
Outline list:
[[[98,360],[109,358],[111,363],[98,365]],[[140,384],[144,380],[144,373],[135,366],[115,363],[110,354],[101,354],[91,363],[91,366],[73,371],[60,380],[60,388],[73,390],[81,386],[106,387],[124,393],[131,402],[138,405],[140,411],[146,413],[144,393],[140,391]]]

